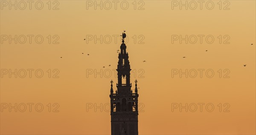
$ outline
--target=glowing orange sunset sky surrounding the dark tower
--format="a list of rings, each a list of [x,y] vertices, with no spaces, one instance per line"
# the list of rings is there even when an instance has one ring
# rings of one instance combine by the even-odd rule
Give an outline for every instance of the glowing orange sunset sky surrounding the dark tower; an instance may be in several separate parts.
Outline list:
[[[106,1],[102,1],[102,10],[100,6],[94,9],[94,1],[85,0],[55,3],[42,0],[41,10],[41,3],[35,7],[36,1],[31,3],[31,9],[25,1],[24,10],[20,1],[17,10],[14,6],[9,9],[4,0],[0,2],[0,134],[109,135],[110,112],[101,112],[100,108],[108,109],[111,79],[117,83],[114,70],[121,40],[118,37],[115,43],[113,35],[121,35],[123,30],[129,37],[126,46],[132,89],[135,79],[140,88],[140,135],[256,134],[255,0],[226,3],[212,0],[212,10],[209,2],[206,7],[207,1],[202,3],[202,9],[195,1],[195,10],[191,1],[186,10],[169,0],[136,1],[136,4],[129,0],[122,7],[122,1],[118,1],[116,9],[110,1],[109,10]],[[15,40],[9,43],[9,35],[11,38],[17,35],[17,44]],[[102,40],[95,40],[95,36],[101,35]],[[185,40],[180,43],[179,39],[172,43],[175,35],[179,38],[188,35],[188,43]],[[203,35],[202,43],[198,35]],[[206,41],[209,35],[214,37],[211,44],[207,42],[210,39]],[[41,37],[44,40],[39,44]],[[196,43],[192,43],[194,37]],[[14,74],[10,78],[9,72],[15,69],[17,78]],[[180,78],[180,71],[186,69],[188,78],[185,75]],[[201,69],[204,69],[202,77]],[[41,78],[35,75],[36,70],[38,76],[41,71],[44,73]],[[210,75],[210,72],[206,75],[207,70],[214,72],[212,78],[207,77]],[[21,78],[24,71],[26,76]],[[179,73],[174,75],[172,71]],[[197,76],[192,78],[194,71]],[[95,72],[99,72],[96,77]],[[9,111],[15,103],[17,112],[12,108]],[[24,112],[20,111],[23,103],[27,107]],[[28,103],[33,103],[31,112]],[[187,103],[190,110],[180,112],[180,103],[182,106]],[[198,103],[204,103],[202,112]],[[44,109],[36,111],[36,104],[38,110],[41,106]],[[179,107],[174,109],[174,104]],[[198,108],[192,112],[195,104]],[[212,112],[205,108],[207,104],[214,106]]]

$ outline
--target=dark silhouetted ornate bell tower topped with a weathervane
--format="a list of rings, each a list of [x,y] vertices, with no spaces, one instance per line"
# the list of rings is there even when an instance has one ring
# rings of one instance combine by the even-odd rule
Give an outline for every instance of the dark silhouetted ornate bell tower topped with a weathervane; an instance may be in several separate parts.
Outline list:
[[[125,32],[125,31],[124,31]],[[130,62],[122,33],[122,44],[120,46],[119,60],[117,65],[118,83],[116,92],[113,92],[113,81],[111,80],[111,135],[138,135],[138,89],[135,80],[135,90],[131,90]]]

